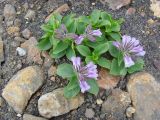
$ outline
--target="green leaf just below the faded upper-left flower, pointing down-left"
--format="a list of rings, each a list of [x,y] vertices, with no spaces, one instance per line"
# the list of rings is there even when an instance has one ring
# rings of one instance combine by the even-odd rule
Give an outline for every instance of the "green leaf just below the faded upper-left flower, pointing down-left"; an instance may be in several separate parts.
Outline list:
[[[53,54],[58,54],[68,48],[68,44],[66,42],[60,41],[57,46],[53,49]]]

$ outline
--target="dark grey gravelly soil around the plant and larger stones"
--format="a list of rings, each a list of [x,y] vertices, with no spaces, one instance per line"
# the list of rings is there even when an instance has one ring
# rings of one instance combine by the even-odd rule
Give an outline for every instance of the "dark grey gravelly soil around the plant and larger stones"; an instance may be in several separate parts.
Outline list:
[[[3,0],[2,0],[3,1]],[[52,11],[64,3],[68,3],[70,6],[69,12],[77,13],[77,15],[89,14],[93,9],[100,9],[104,11],[108,11],[111,13],[114,18],[124,18],[125,22],[122,25],[122,34],[128,34],[130,36],[136,37],[143,44],[146,55],[145,55],[145,71],[151,73],[157,80],[160,82],[160,70],[156,68],[154,65],[155,60],[160,60],[160,25],[150,26],[147,24],[149,19],[158,20],[153,16],[153,13],[149,10],[150,1],[149,0],[135,0],[129,6],[125,6],[117,11],[112,11],[108,8],[107,5],[103,5],[102,3],[95,0],[52,0],[52,4],[48,4],[48,0],[8,0],[3,3],[0,3],[0,15],[3,15],[3,9],[5,4],[10,3],[16,7],[17,11],[22,9],[22,5],[25,2],[29,3],[29,8],[32,8],[36,12],[36,19],[34,22],[26,23],[24,16],[26,12],[22,12],[17,15],[22,22],[21,30],[25,28],[29,28],[32,34],[36,38],[40,38],[42,35],[42,31],[40,30],[40,25],[43,24],[44,18]],[[92,5],[95,3],[95,5]],[[136,9],[136,13],[134,15],[127,16],[126,11],[128,8],[133,7]],[[66,14],[67,14],[66,13]],[[145,14],[144,14],[145,13]],[[142,15],[144,14],[144,15]],[[160,22],[160,20],[158,20]],[[6,28],[5,24],[3,24],[4,28]],[[14,44],[14,37],[8,36],[7,33],[2,35],[4,45],[5,45],[5,61],[2,63],[2,72],[0,72],[1,80],[0,80],[0,93],[2,93],[2,89],[7,84],[8,80],[19,70],[28,66],[25,63],[25,58],[20,58],[16,55]],[[62,60],[65,61],[65,60]],[[59,63],[59,61],[55,61],[54,64]],[[22,67],[21,67],[22,65]],[[18,67],[17,67],[18,66]],[[19,67],[20,66],[20,67]],[[46,79],[48,79],[46,77]],[[63,81],[62,83],[65,83]],[[53,89],[59,88],[64,84],[60,83],[59,78],[56,78],[56,81],[48,80],[44,86],[32,97],[27,106],[25,113],[30,113],[34,115],[39,115],[37,110],[37,100],[38,98],[47,92],[52,91]],[[101,91],[97,97],[91,95],[85,95],[86,102],[77,110],[73,110],[65,115],[52,118],[51,120],[87,120],[85,117],[86,108],[92,108],[95,112],[94,120],[103,120],[104,116],[101,113],[101,106],[96,105],[96,99],[102,98],[105,100],[108,91]],[[0,108],[0,120],[20,120],[21,118],[17,117],[17,114],[10,108],[5,102],[4,105]],[[126,118],[127,119],[127,118]]]

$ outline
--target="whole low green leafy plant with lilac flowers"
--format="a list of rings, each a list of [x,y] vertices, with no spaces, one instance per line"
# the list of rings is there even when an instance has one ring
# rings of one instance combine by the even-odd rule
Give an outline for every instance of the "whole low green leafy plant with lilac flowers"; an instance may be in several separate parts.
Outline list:
[[[72,64],[58,66],[57,74],[69,80],[64,95],[74,97],[80,91],[98,93],[97,66],[110,74],[124,76],[143,69],[145,51],[139,40],[120,35],[122,19],[115,20],[107,12],[94,10],[88,16],[53,15],[42,25],[44,35],[38,47],[49,51],[54,59],[67,57]]]

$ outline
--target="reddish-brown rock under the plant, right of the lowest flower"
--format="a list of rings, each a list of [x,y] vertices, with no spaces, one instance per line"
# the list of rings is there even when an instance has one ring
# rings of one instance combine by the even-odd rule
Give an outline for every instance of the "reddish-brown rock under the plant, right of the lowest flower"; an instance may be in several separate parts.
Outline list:
[[[97,82],[100,88],[111,89],[117,86],[119,80],[120,77],[112,76],[108,70],[101,68]]]

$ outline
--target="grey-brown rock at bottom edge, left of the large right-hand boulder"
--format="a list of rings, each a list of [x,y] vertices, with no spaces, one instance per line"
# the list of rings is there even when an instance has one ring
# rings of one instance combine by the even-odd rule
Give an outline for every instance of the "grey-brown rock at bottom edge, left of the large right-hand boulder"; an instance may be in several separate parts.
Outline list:
[[[126,120],[125,111],[131,104],[130,96],[120,89],[113,89],[112,94],[102,104],[102,112],[108,120]]]

